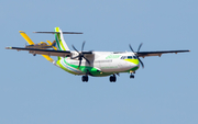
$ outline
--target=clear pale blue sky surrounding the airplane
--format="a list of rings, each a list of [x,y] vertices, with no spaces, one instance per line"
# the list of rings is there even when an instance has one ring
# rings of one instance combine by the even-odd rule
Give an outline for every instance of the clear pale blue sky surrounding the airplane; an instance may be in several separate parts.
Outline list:
[[[0,124],[197,124],[197,0],[1,0]],[[54,41],[34,31],[84,32],[64,35],[85,50],[190,53],[142,58],[135,79],[74,76],[42,56],[4,49]],[[55,57],[56,59],[56,57]]]

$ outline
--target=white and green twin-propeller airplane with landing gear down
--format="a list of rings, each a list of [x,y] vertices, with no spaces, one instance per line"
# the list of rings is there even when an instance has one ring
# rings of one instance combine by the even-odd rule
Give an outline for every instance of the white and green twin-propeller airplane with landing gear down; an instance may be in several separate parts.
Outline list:
[[[30,45],[34,43],[30,37],[22,31],[21,35],[26,40]],[[130,78],[134,78],[135,71],[142,66],[144,68],[143,61],[140,57],[150,57],[150,56],[162,56],[162,54],[168,53],[186,53],[190,52],[185,50],[158,50],[158,52],[140,52],[142,43],[140,44],[138,52],[134,52],[132,46],[129,45],[131,52],[94,52],[94,50],[84,50],[85,42],[81,45],[81,50],[78,50],[74,45],[72,47],[74,50],[70,50],[64,41],[63,34],[82,34],[79,32],[62,32],[59,27],[55,27],[54,32],[34,32],[34,33],[47,33],[55,34],[56,47],[53,49],[41,49],[37,47],[6,47],[6,49],[16,49],[16,50],[28,50],[33,55],[42,55],[47,60],[53,63],[55,66],[64,69],[65,71],[82,76],[81,81],[88,82],[89,76],[92,77],[106,77],[110,76],[110,82],[117,81],[117,75],[121,72],[129,72]],[[52,45],[52,43],[51,43]],[[57,60],[51,58],[51,56],[57,56]]]

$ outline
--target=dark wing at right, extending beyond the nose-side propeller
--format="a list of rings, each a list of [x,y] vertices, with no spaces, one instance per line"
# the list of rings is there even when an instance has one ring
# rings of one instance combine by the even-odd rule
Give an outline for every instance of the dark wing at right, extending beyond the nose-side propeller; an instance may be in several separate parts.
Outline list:
[[[190,50],[158,50],[158,52],[138,52],[139,57],[147,57],[147,56],[162,56],[162,54],[170,54],[170,53],[186,53]]]

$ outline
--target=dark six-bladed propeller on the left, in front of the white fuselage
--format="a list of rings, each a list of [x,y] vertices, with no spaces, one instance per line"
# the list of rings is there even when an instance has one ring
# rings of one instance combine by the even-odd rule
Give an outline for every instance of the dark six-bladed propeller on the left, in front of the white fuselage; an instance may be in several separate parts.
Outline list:
[[[78,58],[78,60],[79,60],[78,68],[79,68],[80,65],[81,65],[82,58],[86,59],[86,61],[90,65],[90,61],[84,56],[85,54],[84,54],[82,50],[84,50],[85,43],[86,43],[86,42],[84,41],[84,43],[82,43],[82,45],[81,45],[81,52],[78,52],[78,50],[75,48],[75,46],[73,45],[73,48],[78,53],[78,56],[72,57],[72,59]]]

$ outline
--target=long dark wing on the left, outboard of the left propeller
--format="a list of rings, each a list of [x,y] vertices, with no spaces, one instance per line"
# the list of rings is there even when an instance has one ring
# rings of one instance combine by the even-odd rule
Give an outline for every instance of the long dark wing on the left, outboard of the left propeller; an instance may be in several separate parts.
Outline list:
[[[23,48],[23,47],[6,47],[6,49],[29,50],[29,53],[33,55],[40,54],[40,55],[61,56],[61,57],[69,57],[72,55],[69,50],[36,49],[36,48]]]

